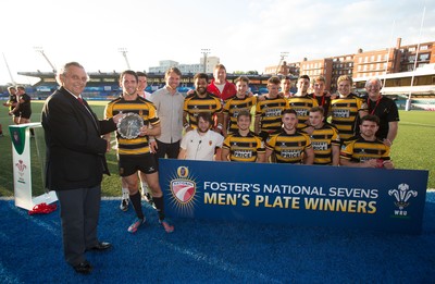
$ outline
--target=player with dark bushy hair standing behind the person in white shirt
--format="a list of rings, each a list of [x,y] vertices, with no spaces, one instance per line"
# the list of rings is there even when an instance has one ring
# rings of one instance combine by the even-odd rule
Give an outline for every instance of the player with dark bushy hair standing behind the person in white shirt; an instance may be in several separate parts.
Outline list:
[[[183,125],[186,132],[198,127],[198,114],[209,112],[216,116],[217,125],[214,128],[221,132],[222,126],[222,103],[221,99],[207,91],[209,76],[206,73],[198,73],[194,76],[195,92],[184,100]]]

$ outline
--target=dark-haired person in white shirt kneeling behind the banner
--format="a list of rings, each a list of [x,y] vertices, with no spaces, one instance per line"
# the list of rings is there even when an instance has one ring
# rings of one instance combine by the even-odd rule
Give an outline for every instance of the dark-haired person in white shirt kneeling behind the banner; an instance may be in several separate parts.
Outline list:
[[[209,112],[198,113],[198,128],[186,133],[182,139],[178,159],[212,161],[221,160],[224,137],[210,129]]]

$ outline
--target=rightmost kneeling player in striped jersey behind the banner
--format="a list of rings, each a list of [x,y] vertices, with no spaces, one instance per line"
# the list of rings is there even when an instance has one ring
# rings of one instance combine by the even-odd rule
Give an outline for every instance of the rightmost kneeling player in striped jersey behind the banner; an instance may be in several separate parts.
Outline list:
[[[389,147],[376,138],[380,119],[368,114],[361,119],[360,136],[350,140],[340,153],[340,164],[358,168],[394,169]]]

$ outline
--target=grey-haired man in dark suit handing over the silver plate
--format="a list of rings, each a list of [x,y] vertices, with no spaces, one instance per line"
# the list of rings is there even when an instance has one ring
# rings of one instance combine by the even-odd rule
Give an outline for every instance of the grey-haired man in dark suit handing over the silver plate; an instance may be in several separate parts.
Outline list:
[[[121,115],[98,121],[82,99],[88,76],[77,62],[66,63],[58,74],[61,87],[45,102],[41,123],[47,146],[46,186],[55,190],[62,220],[65,260],[77,273],[90,273],[86,250],[104,250],[97,224],[102,174],[109,174],[100,135],[116,129]]]

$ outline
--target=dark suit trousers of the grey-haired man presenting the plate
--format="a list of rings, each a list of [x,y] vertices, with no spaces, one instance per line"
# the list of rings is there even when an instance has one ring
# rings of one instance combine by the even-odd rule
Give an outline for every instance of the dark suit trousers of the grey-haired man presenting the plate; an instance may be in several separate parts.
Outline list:
[[[101,185],[55,193],[60,202],[64,257],[69,264],[76,266],[86,260],[86,249],[98,244]]]

